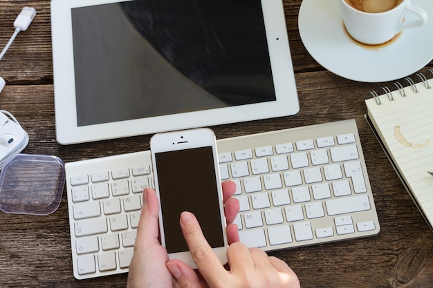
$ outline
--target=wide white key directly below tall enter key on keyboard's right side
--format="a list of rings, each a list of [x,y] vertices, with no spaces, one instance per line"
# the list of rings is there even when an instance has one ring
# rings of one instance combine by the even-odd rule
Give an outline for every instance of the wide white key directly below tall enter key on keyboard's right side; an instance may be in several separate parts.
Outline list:
[[[326,201],[328,215],[370,210],[370,201],[367,195],[359,195]]]

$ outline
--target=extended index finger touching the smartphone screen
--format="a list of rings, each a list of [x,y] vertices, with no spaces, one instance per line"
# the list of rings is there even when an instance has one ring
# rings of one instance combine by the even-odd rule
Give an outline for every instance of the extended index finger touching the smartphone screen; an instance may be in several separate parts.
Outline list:
[[[201,276],[210,286],[221,282],[228,272],[203,236],[200,224],[194,214],[190,212],[181,214],[181,228],[192,259],[199,268]]]

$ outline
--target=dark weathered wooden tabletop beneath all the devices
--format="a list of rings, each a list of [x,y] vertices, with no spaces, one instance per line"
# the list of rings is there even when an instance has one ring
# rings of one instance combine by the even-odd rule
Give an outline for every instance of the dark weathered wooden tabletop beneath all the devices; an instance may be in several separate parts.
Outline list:
[[[433,287],[433,232],[364,119],[364,100],[369,98],[369,91],[379,92],[392,82],[351,81],[320,66],[300,39],[297,29],[300,4],[301,0],[284,0],[300,112],[291,117],[214,126],[216,137],[356,119],[380,233],[272,254],[293,268],[302,287]],[[35,8],[37,15],[0,60],[0,75],[6,79],[0,108],[15,115],[30,135],[23,153],[57,155],[64,162],[72,162],[149,149],[151,135],[71,146],[57,144],[50,2],[0,0],[0,47],[12,35],[12,23],[23,6]],[[432,67],[433,61],[421,72]],[[0,287],[125,287],[127,282],[126,274],[93,280],[73,278],[66,189],[59,209],[53,214],[0,213],[0,276]]]

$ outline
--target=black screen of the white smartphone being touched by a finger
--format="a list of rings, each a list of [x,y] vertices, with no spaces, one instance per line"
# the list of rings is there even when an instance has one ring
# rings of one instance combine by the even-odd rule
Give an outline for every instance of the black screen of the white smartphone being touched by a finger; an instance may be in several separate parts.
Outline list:
[[[199,220],[211,247],[224,247],[212,146],[155,153],[161,212],[168,253],[188,251],[180,216]]]

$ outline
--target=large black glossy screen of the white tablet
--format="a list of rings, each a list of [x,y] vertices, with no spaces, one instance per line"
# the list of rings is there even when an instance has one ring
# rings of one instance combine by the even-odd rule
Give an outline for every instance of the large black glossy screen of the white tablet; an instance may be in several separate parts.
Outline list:
[[[260,0],[133,0],[71,16],[78,126],[276,100]]]

